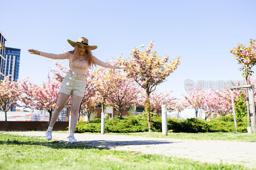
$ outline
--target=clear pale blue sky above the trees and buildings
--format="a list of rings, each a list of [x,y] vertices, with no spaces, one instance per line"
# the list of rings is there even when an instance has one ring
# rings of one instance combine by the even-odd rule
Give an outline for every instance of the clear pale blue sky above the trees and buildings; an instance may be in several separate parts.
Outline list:
[[[134,47],[154,40],[159,55],[181,56],[178,69],[159,86],[180,97],[187,93],[186,79],[241,80],[229,51],[256,39],[255,1],[74,2],[0,0],[5,45],[21,49],[20,79],[30,75],[40,84],[54,67],[53,61],[29,54],[30,48],[60,54],[64,46],[72,50],[67,39],[86,37],[98,46],[94,55],[106,61],[121,53],[127,57]]]

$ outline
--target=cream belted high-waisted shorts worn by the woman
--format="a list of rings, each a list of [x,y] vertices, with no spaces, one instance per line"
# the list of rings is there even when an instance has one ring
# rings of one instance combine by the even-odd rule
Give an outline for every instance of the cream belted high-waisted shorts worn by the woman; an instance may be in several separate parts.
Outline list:
[[[60,92],[71,95],[72,93],[84,97],[86,87],[86,77],[78,76],[68,71],[67,75],[63,78]]]

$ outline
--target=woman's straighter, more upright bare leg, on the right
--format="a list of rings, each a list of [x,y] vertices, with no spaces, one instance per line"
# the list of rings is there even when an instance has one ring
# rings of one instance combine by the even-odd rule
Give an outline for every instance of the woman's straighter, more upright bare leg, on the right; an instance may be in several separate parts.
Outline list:
[[[72,97],[72,102],[71,102],[71,122],[70,122],[70,133],[74,133],[76,129],[76,123],[78,119],[78,111],[79,111],[79,106],[81,104],[81,101],[83,97],[77,96],[75,94],[71,95]]]

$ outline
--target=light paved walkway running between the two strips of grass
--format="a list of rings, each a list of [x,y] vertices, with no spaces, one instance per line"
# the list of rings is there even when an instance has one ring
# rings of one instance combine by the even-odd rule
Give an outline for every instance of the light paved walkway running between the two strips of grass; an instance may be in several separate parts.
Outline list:
[[[44,132],[4,132],[25,136],[45,137]],[[53,140],[68,142],[68,133],[52,133]],[[162,154],[188,158],[194,161],[241,164],[256,168],[256,143],[132,137],[124,135],[75,134],[77,144],[88,144],[118,151],[140,151],[147,154]]]

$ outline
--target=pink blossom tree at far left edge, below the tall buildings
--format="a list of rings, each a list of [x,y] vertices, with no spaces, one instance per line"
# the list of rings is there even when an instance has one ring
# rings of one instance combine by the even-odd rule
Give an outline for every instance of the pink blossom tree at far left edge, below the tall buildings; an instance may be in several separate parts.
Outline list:
[[[19,106],[22,90],[20,89],[20,80],[10,81],[10,76],[6,76],[0,82],[0,110],[5,113],[5,122],[7,122],[7,111],[12,107]]]

